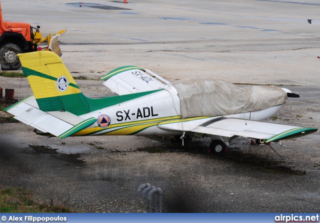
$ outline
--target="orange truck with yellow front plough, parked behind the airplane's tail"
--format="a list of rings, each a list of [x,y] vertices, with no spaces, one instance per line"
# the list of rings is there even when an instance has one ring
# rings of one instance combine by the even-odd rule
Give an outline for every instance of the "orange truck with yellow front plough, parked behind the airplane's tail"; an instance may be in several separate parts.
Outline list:
[[[0,2],[0,70],[19,68],[21,63],[17,57],[18,53],[50,50],[59,56],[62,54],[57,36],[62,35],[66,29],[53,35],[49,33],[42,38],[39,28],[39,25],[32,27],[25,22],[3,21]],[[47,42],[47,46],[39,47],[39,44],[44,41]]]

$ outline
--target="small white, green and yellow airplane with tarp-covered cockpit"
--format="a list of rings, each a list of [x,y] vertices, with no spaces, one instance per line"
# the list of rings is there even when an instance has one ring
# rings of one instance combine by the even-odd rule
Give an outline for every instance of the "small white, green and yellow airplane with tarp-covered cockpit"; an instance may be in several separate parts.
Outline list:
[[[287,97],[276,86],[239,87],[219,79],[188,78],[170,83],[137,66],[122,66],[101,77],[117,95],[85,96],[61,58],[50,51],[18,54],[33,95],[5,108],[40,135],[209,134],[212,153],[223,153],[222,136],[260,143],[310,134],[313,127],[260,121],[276,113]],[[148,74],[148,73],[149,74]]]

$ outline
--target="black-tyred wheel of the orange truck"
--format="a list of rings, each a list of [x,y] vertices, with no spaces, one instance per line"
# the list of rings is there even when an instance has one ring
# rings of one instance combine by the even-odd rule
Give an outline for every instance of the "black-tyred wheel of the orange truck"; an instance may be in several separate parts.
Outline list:
[[[17,44],[7,42],[0,47],[1,69],[14,70],[20,67],[21,63],[17,56],[22,50]]]

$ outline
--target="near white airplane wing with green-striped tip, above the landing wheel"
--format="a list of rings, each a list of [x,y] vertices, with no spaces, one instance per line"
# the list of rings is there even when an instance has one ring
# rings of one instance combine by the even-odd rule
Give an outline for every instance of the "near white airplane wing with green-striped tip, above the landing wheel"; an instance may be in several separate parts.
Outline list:
[[[198,119],[195,121],[199,121]],[[265,142],[290,139],[317,131],[317,128],[302,127],[281,123],[245,120],[240,118],[218,117],[194,127],[193,121],[183,122],[183,129],[212,135],[231,137],[233,135],[264,139]],[[182,130],[181,122],[158,125],[161,129]],[[194,127],[194,128],[192,128]]]

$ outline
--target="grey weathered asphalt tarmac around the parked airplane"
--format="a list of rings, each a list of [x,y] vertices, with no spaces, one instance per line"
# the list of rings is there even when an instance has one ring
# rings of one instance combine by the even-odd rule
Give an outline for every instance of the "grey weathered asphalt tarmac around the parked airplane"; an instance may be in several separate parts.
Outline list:
[[[307,22],[319,19],[317,1],[1,5],[5,20],[40,25],[43,34],[67,28],[59,37],[61,58],[73,76],[95,79],[137,65],[169,81],[201,76],[283,84],[300,98],[289,98],[276,114],[280,119],[269,121],[320,127],[319,24]],[[85,94],[109,92],[100,80],[76,82]],[[0,86],[14,88],[18,99],[32,94],[24,78],[0,77]],[[148,182],[163,190],[164,212],[320,212],[319,132],[271,144],[278,154],[237,138],[217,157],[207,154],[209,138],[201,135],[182,147],[160,136],[61,140],[32,130],[0,124],[0,185],[25,186],[39,202],[85,212],[144,212],[146,201],[135,193]]]

